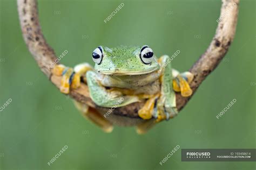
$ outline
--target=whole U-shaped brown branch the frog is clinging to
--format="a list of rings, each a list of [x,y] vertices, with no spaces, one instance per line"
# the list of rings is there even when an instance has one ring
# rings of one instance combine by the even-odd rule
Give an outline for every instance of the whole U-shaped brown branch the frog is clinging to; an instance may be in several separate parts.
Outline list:
[[[57,88],[60,87],[61,77],[51,74],[50,66],[52,63],[58,63],[53,49],[47,44],[44,39],[38,19],[38,9],[36,0],[17,0],[19,21],[23,38],[29,51],[38,63],[42,72],[55,84]],[[206,52],[200,56],[199,60],[190,68],[190,72],[194,74],[194,79],[191,82],[191,89],[194,92],[224,58],[228,48],[233,41],[235,35],[235,28],[238,18],[239,0],[223,0],[221,6],[220,18],[218,19],[218,28],[215,36],[207,48]],[[72,89],[69,94],[76,101],[85,103],[90,107],[96,108],[100,111],[106,111],[108,108],[98,107],[90,98],[86,84],[78,89]],[[181,110],[191,97],[182,97],[176,94],[176,102],[178,110]],[[138,117],[138,110],[142,108],[144,102],[132,103],[122,108],[113,110],[114,115],[122,115],[132,118]]]

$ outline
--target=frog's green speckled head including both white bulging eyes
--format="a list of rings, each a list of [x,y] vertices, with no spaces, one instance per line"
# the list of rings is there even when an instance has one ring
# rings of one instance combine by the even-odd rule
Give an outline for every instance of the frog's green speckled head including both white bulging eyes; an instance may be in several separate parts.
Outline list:
[[[157,58],[149,46],[97,47],[92,53],[96,72],[103,74],[139,75],[159,69]]]

